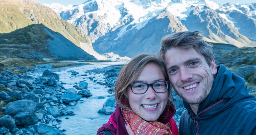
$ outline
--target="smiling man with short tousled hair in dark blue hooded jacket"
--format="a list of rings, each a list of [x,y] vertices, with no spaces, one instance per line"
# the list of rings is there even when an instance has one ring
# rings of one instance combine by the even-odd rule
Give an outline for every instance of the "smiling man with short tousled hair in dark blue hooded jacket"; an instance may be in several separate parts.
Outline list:
[[[212,45],[200,32],[165,36],[159,51],[170,83],[183,99],[180,135],[256,135],[256,98],[245,80],[216,67]]]

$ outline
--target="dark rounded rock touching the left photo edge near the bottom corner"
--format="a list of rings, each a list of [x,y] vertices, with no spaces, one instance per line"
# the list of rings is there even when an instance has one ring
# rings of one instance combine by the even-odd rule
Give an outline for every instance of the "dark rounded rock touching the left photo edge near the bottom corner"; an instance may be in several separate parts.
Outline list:
[[[16,127],[15,120],[11,116],[5,115],[2,118],[0,118],[0,127],[6,127],[12,130],[13,128]]]

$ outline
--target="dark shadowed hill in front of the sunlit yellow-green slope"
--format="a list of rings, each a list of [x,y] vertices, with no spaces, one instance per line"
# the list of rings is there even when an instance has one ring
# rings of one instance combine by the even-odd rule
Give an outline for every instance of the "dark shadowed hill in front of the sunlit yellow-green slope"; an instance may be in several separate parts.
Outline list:
[[[16,31],[0,34],[1,55],[95,59],[84,50],[42,24],[33,24]]]

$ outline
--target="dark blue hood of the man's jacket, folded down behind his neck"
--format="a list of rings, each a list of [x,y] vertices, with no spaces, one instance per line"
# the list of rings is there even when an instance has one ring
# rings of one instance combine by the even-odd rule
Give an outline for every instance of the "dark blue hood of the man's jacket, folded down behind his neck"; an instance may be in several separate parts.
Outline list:
[[[228,109],[236,103],[244,100],[255,100],[253,95],[248,94],[245,80],[232,73],[223,64],[217,67],[217,76],[212,85],[212,89],[206,99],[199,104],[197,116],[209,118],[219,112]],[[188,111],[195,115],[190,105],[183,100]],[[207,111],[210,109],[211,111]],[[201,119],[200,118],[200,119]]]

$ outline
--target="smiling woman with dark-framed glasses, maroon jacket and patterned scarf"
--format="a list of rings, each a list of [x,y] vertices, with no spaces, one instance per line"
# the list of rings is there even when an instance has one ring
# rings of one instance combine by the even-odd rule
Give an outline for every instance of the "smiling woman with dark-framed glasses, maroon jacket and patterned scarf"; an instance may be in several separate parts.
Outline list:
[[[178,135],[169,78],[156,57],[133,57],[120,71],[114,90],[116,110],[97,135],[128,135],[127,130],[135,135]]]

